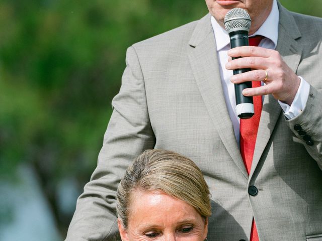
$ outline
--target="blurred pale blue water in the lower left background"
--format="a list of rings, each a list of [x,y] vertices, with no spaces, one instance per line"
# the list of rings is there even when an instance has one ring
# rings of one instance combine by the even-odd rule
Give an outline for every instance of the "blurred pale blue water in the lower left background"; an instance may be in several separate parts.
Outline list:
[[[0,241],[58,241],[63,238],[31,168],[17,181],[0,178]]]

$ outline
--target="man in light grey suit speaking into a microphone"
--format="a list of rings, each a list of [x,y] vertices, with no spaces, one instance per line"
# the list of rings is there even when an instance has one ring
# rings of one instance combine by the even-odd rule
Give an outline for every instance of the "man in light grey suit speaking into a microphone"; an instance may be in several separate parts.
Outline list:
[[[203,171],[209,241],[249,240],[253,218],[260,240],[322,240],[322,20],[276,0],[206,4],[201,20],[128,49],[98,166],[66,240],[118,239],[115,190],[129,163],[152,148],[186,155]],[[250,34],[265,37],[260,47],[229,51],[223,17],[236,7],[250,13]],[[244,67],[254,70],[231,78]],[[248,174],[230,80],[265,77],[244,92],[265,95]]]

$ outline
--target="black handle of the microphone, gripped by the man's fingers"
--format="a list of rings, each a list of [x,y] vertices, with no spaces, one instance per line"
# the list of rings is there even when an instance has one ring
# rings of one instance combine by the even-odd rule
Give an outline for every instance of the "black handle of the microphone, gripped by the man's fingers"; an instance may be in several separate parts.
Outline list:
[[[235,48],[235,47],[240,47],[240,46],[249,46],[248,42],[248,32],[247,31],[234,31],[229,33],[230,37],[230,47]],[[240,58],[240,57],[237,57]],[[236,59],[236,58],[232,58]],[[245,69],[235,69],[233,70],[233,74],[240,74],[240,73],[245,73],[251,71],[250,68],[245,68]],[[252,96],[244,96],[243,90],[246,88],[251,88],[252,87],[252,82],[244,82],[240,84],[234,84],[235,87],[235,100],[236,100],[236,106],[238,104],[251,104],[253,105],[253,97]],[[240,105],[239,105],[240,106]],[[254,107],[252,107],[253,110],[245,110],[245,112],[237,113],[238,117],[241,119],[248,119],[254,115]]]

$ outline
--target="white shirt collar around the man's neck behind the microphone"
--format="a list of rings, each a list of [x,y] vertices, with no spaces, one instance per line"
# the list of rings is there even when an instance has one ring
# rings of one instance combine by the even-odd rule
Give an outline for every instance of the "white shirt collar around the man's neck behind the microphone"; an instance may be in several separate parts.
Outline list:
[[[268,38],[274,44],[274,49],[277,45],[278,39],[278,23],[279,23],[279,10],[277,6],[276,0],[273,1],[272,11],[262,24],[262,26],[255,32],[254,35],[262,35]],[[213,32],[215,35],[217,51],[223,49],[229,44],[229,35],[225,29],[223,29],[215,20],[213,16],[211,16],[211,25],[213,28]],[[252,35],[252,36],[254,36]]]

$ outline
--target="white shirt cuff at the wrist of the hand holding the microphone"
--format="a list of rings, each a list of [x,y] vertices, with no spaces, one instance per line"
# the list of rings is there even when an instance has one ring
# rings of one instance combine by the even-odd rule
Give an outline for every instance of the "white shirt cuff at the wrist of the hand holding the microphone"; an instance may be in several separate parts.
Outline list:
[[[310,91],[309,83],[307,83],[302,77],[298,77],[301,79],[301,82],[291,106],[278,100],[278,103],[282,107],[287,119],[296,117],[305,108]]]

